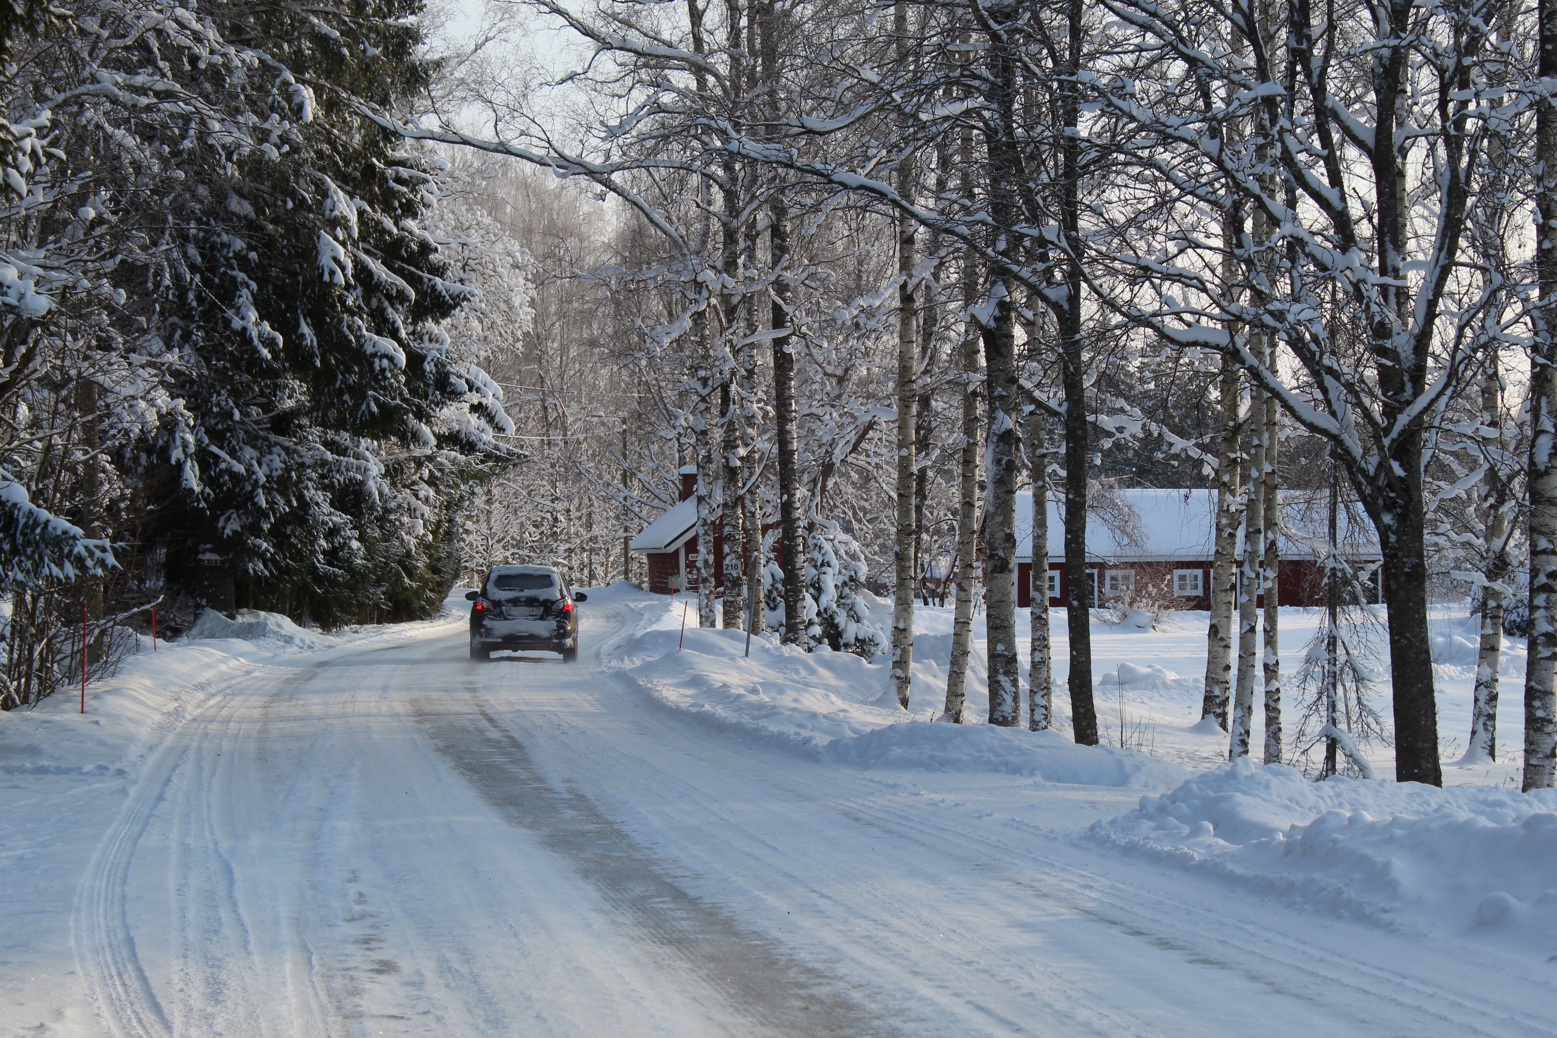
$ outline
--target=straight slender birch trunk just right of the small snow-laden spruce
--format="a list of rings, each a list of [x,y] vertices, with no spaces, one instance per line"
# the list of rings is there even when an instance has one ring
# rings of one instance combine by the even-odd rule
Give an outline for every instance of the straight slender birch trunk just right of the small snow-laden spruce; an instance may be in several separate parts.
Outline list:
[[[908,3],[897,0],[892,31],[898,62],[909,50]],[[897,191],[914,198],[914,159],[897,165]],[[919,359],[919,311],[914,296],[914,229],[906,213],[897,218],[897,538],[892,565],[892,686],[897,703],[908,710],[914,672],[914,369]]]

